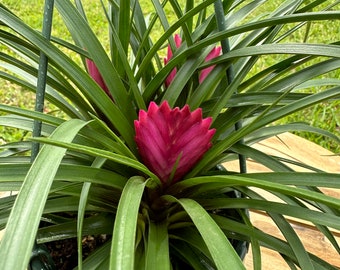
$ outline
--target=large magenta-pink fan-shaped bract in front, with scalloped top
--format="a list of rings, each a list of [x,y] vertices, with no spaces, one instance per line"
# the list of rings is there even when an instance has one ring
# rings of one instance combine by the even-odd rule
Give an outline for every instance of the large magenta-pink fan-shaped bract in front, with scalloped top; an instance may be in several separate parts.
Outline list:
[[[190,112],[188,105],[171,109],[167,101],[160,106],[151,102],[134,123],[144,164],[164,184],[182,179],[211,147],[211,122],[211,117],[202,119],[200,108]]]

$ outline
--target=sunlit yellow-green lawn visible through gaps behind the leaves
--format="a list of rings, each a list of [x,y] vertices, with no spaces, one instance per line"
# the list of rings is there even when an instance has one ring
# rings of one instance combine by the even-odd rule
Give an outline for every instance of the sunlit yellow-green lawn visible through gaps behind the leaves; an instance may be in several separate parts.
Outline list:
[[[140,1],[145,9],[145,15],[148,16],[152,10],[152,3],[150,0]],[[185,2],[185,0],[183,0]],[[200,1],[197,1],[200,2]],[[86,0],[83,1],[85,11],[90,19],[90,24],[96,31],[99,39],[102,41],[104,46],[108,46],[108,27],[105,24],[104,14],[102,12],[102,7],[100,1]],[[267,12],[273,11],[279,4],[282,3],[280,0],[268,0],[265,4],[265,8],[259,9],[258,14],[253,14],[252,17],[265,16]],[[22,18],[27,24],[37,29],[41,30],[42,27],[42,16],[43,16],[43,0],[2,0],[2,4],[12,10],[20,18]],[[169,7],[166,10],[169,20],[175,19],[175,14]],[[293,27],[294,25],[291,25]],[[298,32],[290,36],[289,40],[284,40],[283,42],[309,42],[309,43],[330,43],[340,40],[340,21],[332,22],[315,22],[309,25],[309,32],[307,32],[307,26],[301,28]],[[159,31],[161,27],[159,26]],[[62,23],[62,20],[57,13],[54,13],[54,23],[52,35],[56,37],[62,37],[71,41],[71,37],[68,35],[68,31]],[[152,39],[157,39],[157,32],[153,32]],[[0,44],[0,52],[7,49]],[[76,57],[76,56],[75,56]],[[279,57],[284,56],[266,56],[261,59],[259,64],[251,72],[259,72],[265,67],[275,63]],[[80,59],[79,59],[80,63]],[[340,78],[340,70],[334,71],[331,74],[325,75],[335,78]],[[322,87],[313,87],[309,91],[317,92],[322,91]],[[11,104],[23,108],[33,108],[34,107],[35,94],[28,92],[17,85],[13,85],[4,79],[0,78],[0,101],[4,104]],[[50,104],[46,104],[46,113],[58,113],[56,108]],[[305,109],[299,113],[293,114],[291,116],[282,119],[279,123],[285,122],[306,122],[312,126],[327,129],[330,132],[340,136],[340,100],[335,100],[331,102],[325,102],[317,106]],[[335,153],[340,152],[340,146],[334,141],[329,140],[323,136],[308,134],[308,133],[297,133],[298,135],[307,138]],[[16,129],[4,128],[0,126],[0,145],[3,143],[8,143],[11,141],[18,141],[23,139],[27,134],[23,131]]]

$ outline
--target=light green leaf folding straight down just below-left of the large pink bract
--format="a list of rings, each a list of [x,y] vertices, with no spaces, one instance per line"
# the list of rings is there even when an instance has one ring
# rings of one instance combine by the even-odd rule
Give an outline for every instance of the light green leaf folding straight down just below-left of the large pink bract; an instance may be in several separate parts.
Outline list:
[[[134,267],[138,210],[145,184],[143,177],[135,176],[123,189],[113,229],[109,269],[130,270]]]

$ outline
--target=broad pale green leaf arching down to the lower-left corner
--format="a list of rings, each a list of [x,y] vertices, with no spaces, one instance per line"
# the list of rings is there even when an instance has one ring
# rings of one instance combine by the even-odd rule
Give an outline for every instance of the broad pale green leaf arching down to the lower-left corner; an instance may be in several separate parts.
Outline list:
[[[72,141],[87,123],[70,120],[51,135],[61,141]],[[66,149],[43,146],[32,164],[13,206],[7,230],[0,243],[1,269],[25,269],[31,255],[35,234],[48,192]],[[27,233],[27,232],[30,233]],[[8,254],[12,254],[8,256]],[[23,258],[18,260],[18,258]]]

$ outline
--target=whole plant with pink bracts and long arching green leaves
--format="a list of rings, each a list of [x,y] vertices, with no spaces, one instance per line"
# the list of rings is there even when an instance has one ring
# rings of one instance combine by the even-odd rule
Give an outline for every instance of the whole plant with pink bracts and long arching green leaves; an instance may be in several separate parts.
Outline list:
[[[1,146],[0,190],[18,193],[0,199],[0,269],[26,269],[35,242],[67,238],[77,238],[78,269],[244,269],[247,243],[254,269],[261,247],[292,269],[336,269],[306,251],[288,217],[339,252],[340,200],[321,191],[339,189],[339,175],[295,172],[251,145],[294,130],[339,142],[276,124],[339,98],[339,37],[308,43],[313,22],[339,22],[339,1],[102,1],[106,39],[87,16],[94,2],[46,1],[59,16],[52,28],[68,29],[51,37],[0,4],[1,78],[22,91],[46,83],[56,111],[0,104],[2,126],[30,134],[42,123],[42,136]],[[272,172],[247,173],[245,158]],[[240,171],[221,169],[233,159]],[[107,242],[83,261],[83,236],[99,234]]]

